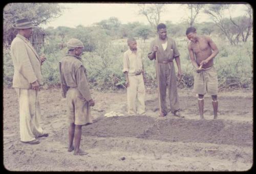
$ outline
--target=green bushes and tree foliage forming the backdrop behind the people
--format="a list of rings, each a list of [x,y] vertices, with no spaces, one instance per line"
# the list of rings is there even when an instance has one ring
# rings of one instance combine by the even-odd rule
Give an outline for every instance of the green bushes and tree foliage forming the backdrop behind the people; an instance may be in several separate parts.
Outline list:
[[[15,32],[11,29],[11,23],[17,18],[17,16],[12,16],[11,14],[13,14],[12,11],[20,7],[19,5],[18,3],[9,4],[4,9],[4,31],[6,39],[4,39],[3,46],[3,82],[4,86],[8,87],[12,85],[13,77],[13,64],[10,56],[11,40],[8,38],[15,36]],[[37,6],[38,8],[39,6],[46,8],[49,5],[38,4]],[[42,13],[41,15],[48,17],[60,15],[61,8],[58,5],[54,6],[56,6],[57,11],[49,8],[49,14]],[[26,13],[22,17],[26,17]],[[33,21],[40,23],[41,21],[39,19],[33,18]],[[234,21],[240,21],[240,19],[236,18]],[[223,20],[223,22],[226,22],[228,24],[227,26],[230,26],[230,21]],[[186,22],[174,24],[171,21],[165,21],[165,24],[167,26],[168,37],[176,40],[181,55],[181,68],[184,76],[178,82],[178,87],[193,87],[193,73],[195,73],[195,69],[190,63],[187,50],[188,40],[185,35],[188,24]],[[214,60],[215,67],[218,71],[219,88],[252,88],[252,35],[248,37],[246,42],[242,41],[240,35],[238,35],[237,44],[230,44],[230,40],[223,35],[223,32],[214,22],[195,23],[194,26],[197,28],[198,35],[210,36],[219,48],[219,54]],[[237,33],[239,31],[230,27],[230,31],[231,29],[233,34],[239,34]],[[150,42],[155,37],[155,32],[151,30],[149,24],[140,22],[122,24],[117,17],[111,17],[107,20],[96,22],[90,27],[81,25],[76,28],[49,27],[44,29],[44,36],[44,45],[41,47],[39,54],[44,53],[47,57],[47,60],[41,67],[44,86],[46,88],[49,86],[60,86],[58,62],[67,53],[66,42],[71,38],[80,39],[86,47],[81,57],[93,88],[99,90],[124,88],[125,78],[122,73],[122,61],[123,53],[128,49],[126,43],[127,37],[135,37],[137,39],[137,46],[143,51],[146,87],[155,88],[157,86],[155,61],[147,58]],[[177,71],[176,62],[175,67]]]

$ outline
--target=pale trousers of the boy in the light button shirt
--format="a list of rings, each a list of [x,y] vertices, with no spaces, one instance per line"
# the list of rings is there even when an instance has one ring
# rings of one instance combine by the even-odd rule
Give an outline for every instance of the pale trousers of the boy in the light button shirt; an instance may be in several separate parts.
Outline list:
[[[145,113],[145,86],[142,74],[138,76],[129,76],[129,87],[127,87],[127,109],[128,114]],[[138,99],[138,108],[136,112],[136,98]]]

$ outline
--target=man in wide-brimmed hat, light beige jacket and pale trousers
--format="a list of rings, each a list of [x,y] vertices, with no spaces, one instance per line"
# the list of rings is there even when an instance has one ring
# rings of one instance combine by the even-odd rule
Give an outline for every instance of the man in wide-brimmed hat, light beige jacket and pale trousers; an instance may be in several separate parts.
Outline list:
[[[18,34],[11,43],[11,57],[14,65],[12,87],[18,94],[20,141],[38,144],[39,137],[47,137],[40,122],[38,88],[42,84],[41,65],[45,56],[38,56],[28,40],[33,34],[33,24],[28,18],[16,20],[13,28]]]

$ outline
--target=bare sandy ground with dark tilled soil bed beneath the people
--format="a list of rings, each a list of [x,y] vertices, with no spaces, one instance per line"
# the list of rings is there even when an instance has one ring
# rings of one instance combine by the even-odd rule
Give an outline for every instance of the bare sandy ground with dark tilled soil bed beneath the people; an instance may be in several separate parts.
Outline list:
[[[244,171],[253,161],[252,90],[223,91],[213,120],[205,95],[205,120],[197,97],[179,89],[181,114],[158,117],[156,90],[147,90],[146,116],[127,116],[126,91],[95,91],[94,123],[82,127],[86,156],[67,151],[66,101],[60,89],[40,91],[41,125],[49,137],[28,145],[19,141],[14,89],[4,89],[4,166],[12,171]],[[124,116],[104,117],[115,111]]]

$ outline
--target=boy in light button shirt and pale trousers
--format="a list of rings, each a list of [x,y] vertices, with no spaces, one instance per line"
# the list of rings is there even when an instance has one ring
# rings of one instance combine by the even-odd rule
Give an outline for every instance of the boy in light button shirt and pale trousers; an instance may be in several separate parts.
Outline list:
[[[143,63],[141,49],[137,48],[134,38],[127,39],[129,49],[123,55],[123,73],[125,73],[125,86],[127,87],[128,114],[145,114],[145,86],[143,81]],[[136,111],[136,98],[138,107]]]

